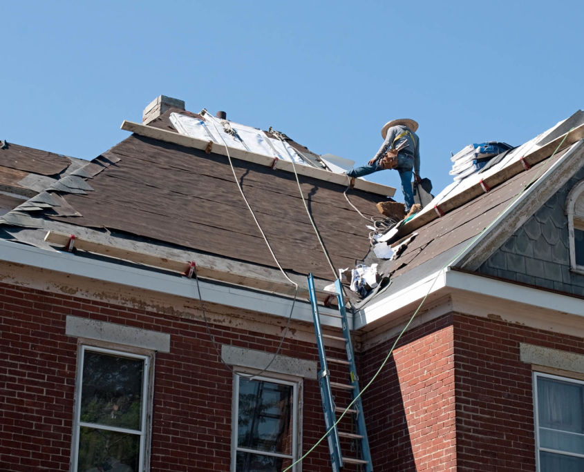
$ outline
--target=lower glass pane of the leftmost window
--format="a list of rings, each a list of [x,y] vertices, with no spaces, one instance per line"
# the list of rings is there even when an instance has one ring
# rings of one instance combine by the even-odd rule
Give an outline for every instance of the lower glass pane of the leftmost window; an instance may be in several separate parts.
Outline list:
[[[77,472],[137,472],[140,436],[82,427]]]

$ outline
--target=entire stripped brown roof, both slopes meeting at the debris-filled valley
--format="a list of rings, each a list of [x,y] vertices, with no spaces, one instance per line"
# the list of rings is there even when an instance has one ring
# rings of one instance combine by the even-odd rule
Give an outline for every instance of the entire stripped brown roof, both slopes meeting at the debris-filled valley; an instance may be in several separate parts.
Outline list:
[[[196,254],[192,256],[195,259],[213,256],[227,261],[222,266],[224,271],[259,273],[258,268],[269,268],[272,275],[264,277],[279,277],[241,198],[227,157],[220,153],[225,148],[206,153],[205,147],[183,146],[174,138],[164,140],[168,135],[178,137],[169,120],[171,113],[178,111],[168,110],[147,127],[166,132],[158,139],[133,134],[82,168],[70,173],[59,170],[61,178],[46,191],[0,219],[3,237],[54,250],[43,240],[47,229],[91,237],[101,235],[112,244],[142,248],[163,258],[171,253],[182,255],[180,250],[187,250]],[[556,134],[558,126],[552,128]],[[531,161],[534,165],[529,170],[518,169],[517,159],[499,168],[493,166],[495,170],[489,175],[500,181],[492,190],[476,194],[471,185],[457,194],[454,201],[458,203],[452,204],[443,217],[438,218],[432,208],[426,208],[403,224],[397,237],[403,240],[414,231],[417,234],[397,259],[377,261],[391,280],[388,290],[379,293],[378,299],[434,273],[465,250],[468,252],[473,239],[496,222],[531,179],[535,176],[538,182],[546,179],[543,171],[561,163],[569,146],[580,139],[581,128],[562,141],[563,149],[552,159],[549,157],[558,140],[565,135],[550,137],[547,132],[544,133],[547,141],[541,144],[545,139],[536,138],[541,146],[536,153],[526,155],[526,161],[529,156],[537,157]],[[310,153],[299,144],[294,146],[302,153]],[[57,164],[66,164],[63,159],[53,161],[57,170]],[[332,279],[294,173],[272,170],[253,160],[234,158],[233,164],[243,192],[283,268],[302,279],[308,273]],[[299,175],[299,181],[335,267],[353,267],[364,259],[373,262],[368,222],[346,201],[343,195],[346,186],[311,175]],[[364,215],[379,215],[375,204],[383,197],[377,193],[352,189],[348,195]],[[212,264],[217,260],[212,259]]]

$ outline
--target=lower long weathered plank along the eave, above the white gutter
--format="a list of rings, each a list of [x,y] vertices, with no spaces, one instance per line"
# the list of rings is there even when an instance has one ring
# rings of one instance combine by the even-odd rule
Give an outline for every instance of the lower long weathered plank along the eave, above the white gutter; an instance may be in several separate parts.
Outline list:
[[[70,235],[65,233],[58,233],[56,231],[48,231],[45,236],[45,241],[54,244],[55,246],[67,246]],[[102,242],[92,241],[91,239],[76,237],[75,248],[84,250],[88,253],[104,255],[107,257],[114,257],[115,259],[123,259],[135,264],[143,264],[156,268],[162,268],[166,271],[176,273],[186,273],[189,268],[189,261],[179,261],[169,259],[167,257],[160,257],[159,255],[152,255],[141,253],[135,250],[120,248],[112,244],[104,244]],[[249,271],[225,271],[217,266],[211,264],[200,264],[197,261],[197,273],[200,277],[205,279],[219,280],[220,282],[227,282],[229,284],[242,285],[247,288],[255,288],[261,291],[268,291],[272,293],[279,293],[282,295],[293,296],[294,286],[290,282],[278,282],[272,279],[265,279],[258,277]],[[230,268],[235,268],[234,264],[227,264]],[[331,295],[323,290],[317,290],[317,299],[319,302],[324,302],[328,296]],[[299,284],[298,297],[301,299],[308,299],[308,284]]]

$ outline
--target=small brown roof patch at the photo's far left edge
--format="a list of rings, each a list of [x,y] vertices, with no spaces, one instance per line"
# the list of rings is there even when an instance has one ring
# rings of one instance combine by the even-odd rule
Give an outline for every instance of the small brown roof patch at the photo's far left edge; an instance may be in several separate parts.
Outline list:
[[[40,149],[8,144],[0,149],[0,166],[32,172],[39,175],[58,175],[68,168],[71,161],[62,155]]]

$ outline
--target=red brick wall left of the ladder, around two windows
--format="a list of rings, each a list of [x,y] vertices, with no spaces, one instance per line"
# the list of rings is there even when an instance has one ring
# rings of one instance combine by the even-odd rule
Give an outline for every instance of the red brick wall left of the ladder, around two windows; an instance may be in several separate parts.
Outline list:
[[[0,470],[68,471],[77,339],[66,315],[171,335],[156,356],[152,471],[229,471],[232,374],[218,362],[205,325],[0,284]],[[274,352],[279,337],[213,327],[218,343]],[[286,342],[283,355],[317,360],[314,345]],[[318,384],[305,380],[303,450],[324,434]],[[304,471],[329,470],[323,444]]]

